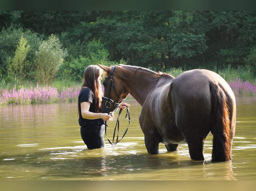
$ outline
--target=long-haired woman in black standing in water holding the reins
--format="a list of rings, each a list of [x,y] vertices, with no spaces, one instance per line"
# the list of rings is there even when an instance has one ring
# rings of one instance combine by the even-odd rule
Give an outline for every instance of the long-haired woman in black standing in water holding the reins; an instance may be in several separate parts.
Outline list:
[[[84,72],[84,84],[78,96],[79,125],[83,141],[88,149],[103,148],[105,125],[112,115],[101,113],[101,75],[103,70],[97,65],[90,65]],[[122,109],[126,103],[121,103]],[[129,104],[126,104],[130,106]]]

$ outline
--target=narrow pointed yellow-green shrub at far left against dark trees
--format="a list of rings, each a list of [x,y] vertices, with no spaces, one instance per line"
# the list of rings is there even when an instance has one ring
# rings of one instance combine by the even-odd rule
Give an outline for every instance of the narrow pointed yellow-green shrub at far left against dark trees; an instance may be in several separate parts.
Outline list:
[[[21,36],[14,58],[9,57],[8,75],[12,77],[16,76],[19,80],[23,80],[25,78],[25,69],[29,67],[29,61],[26,60],[29,49],[30,46],[27,45],[27,40]]]

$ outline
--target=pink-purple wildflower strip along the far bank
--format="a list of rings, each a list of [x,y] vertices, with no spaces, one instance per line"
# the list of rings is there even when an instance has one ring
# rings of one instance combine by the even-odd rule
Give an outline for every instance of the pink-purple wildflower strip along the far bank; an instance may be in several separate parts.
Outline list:
[[[256,80],[252,84],[249,81],[243,82],[236,79],[229,85],[235,96],[256,96]],[[63,88],[61,92],[58,92],[57,88],[40,87],[38,84],[35,88],[0,89],[0,105],[72,102],[77,101],[79,92],[80,87]]]

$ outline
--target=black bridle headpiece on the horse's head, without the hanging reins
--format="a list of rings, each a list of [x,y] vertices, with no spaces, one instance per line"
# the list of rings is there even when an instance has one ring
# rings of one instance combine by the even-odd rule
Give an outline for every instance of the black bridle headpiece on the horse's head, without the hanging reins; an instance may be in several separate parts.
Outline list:
[[[117,67],[118,65],[114,66],[111,70],[111,73],[109,76],[106,76],[105,78],[110,78],[110,90],[109,90],[109,97],[102,97],[102,100],[105,101],[105,106],[106,108],[111,108],[112,107],[112,104],[114,104],[114,106],[116,107],[116,110],[114,112],[117,112],[118,108],[120,107],[120,103],[118,102],[115,102],[113,99],[110,99],[110,95],[111,95],[111,87],[113,87],[113,90],[114,90],[114,93],[115,95],[118,97],[118,101],[119,100],[125,100],[125,99],[122,99],[121,97],[119,97],[116,93],[116,89],[115,89],[115,86],[114,86],[114,81],[113,81],[113,74],[114,74],[114,71],[115,71],[115,68]]]

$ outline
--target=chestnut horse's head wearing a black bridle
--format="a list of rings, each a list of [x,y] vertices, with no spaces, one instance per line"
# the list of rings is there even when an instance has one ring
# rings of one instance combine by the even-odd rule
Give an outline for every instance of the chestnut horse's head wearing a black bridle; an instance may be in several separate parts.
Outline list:
[[[120,65],[108,67],[98,64],[98,66],[106,72],[104,75],[105,80],[103,81],[104,95],[102,97],[101,112],[109,113],[117,109],[129,93],[125,91],[122,80],[117,75],[117,72],[115,72],[116,67]]]

